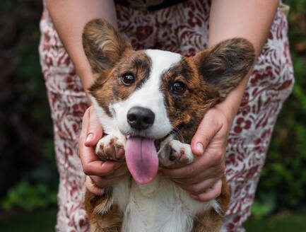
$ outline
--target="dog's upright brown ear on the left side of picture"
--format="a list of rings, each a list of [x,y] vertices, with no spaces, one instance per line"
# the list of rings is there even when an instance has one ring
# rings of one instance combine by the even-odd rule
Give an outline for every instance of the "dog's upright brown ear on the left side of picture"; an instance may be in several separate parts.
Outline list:
[[[83,48],[93,74],[111,69],[131,45],[102,19],[88,22],[83,29]]]

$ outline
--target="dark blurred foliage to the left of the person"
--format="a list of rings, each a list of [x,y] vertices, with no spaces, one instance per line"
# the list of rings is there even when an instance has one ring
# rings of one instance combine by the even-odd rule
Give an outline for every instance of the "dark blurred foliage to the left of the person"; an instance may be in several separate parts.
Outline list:
[[[1,1],[0,210],[57,204],[52,120],[40,69],[42,1]]]

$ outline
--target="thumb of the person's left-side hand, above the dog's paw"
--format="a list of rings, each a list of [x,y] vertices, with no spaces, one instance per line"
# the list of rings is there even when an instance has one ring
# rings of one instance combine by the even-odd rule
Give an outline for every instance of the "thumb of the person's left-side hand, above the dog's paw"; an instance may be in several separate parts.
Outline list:
[[[88,111],[88,112],[87,112]],[[86,131],[85,146],[95,146],[102,137],[102,126],[98,120],[93,106],[86,110],[88,115],[84,115],[82,129]],[[85,128],[84,128],[85,127]]]

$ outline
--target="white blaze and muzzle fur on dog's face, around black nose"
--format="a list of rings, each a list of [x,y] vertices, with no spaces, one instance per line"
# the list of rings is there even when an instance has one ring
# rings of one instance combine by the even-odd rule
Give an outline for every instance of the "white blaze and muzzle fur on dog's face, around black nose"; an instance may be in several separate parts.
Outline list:
[[[130,134],[133,130],[126,120],[129,109],[139,106],[152,110],[155,114],[153,126],[139,134],[143,137],[162,138],[167,135],[172,125],[167,117],[167,110],[164,104],[164,96],[160,90],[161,77],[164,71],[177,64],[182,59],[180,54],[165,52],[161,50],[146,50],[151,58],[152,66],[148,80],[137,91],[132,93],[123,102],[111,106],[115,114],[119,130],[124,134]]]

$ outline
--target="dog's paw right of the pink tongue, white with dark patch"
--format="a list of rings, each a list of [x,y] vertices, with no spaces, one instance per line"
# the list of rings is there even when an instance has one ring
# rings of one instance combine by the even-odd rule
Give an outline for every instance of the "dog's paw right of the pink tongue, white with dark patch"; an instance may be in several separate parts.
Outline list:
[[[159,156],[160,166],[177,168],[194,161],[194,154],[189,144],[172,140],[167,144]]]

